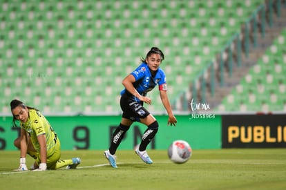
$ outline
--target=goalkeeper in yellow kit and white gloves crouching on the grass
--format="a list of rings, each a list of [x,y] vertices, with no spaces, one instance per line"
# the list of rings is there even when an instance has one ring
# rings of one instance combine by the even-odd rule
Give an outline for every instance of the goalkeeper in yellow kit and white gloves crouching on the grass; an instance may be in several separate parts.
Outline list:
[[[61,143],[57,133],[50,126],[44,115],[39,110],[25,106],[23,102],[14,99],[10,102],[13,115],[13,125],[17,126],[19,120],[21,135],[14,144],[21,150],[20,166],[17,171],[26,171],[26,154],[35,158],[33,171],[45,171],[46,169],[75,169],[80,163],[79,158],[59,160],[61,157]]]

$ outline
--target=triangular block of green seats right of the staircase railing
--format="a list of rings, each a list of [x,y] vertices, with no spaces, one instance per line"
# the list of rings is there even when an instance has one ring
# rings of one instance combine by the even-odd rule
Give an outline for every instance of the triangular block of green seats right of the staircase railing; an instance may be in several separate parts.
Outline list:
[[[218,106],[220,111],[283,111],[286,91],[286,28]]]

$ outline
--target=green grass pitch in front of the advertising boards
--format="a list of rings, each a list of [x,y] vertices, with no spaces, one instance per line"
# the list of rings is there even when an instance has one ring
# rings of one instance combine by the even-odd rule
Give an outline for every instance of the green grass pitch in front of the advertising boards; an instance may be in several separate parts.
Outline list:
[[[113,169],[103,151],[62,151],[63,159],[82,158],[79,169],[14,172],[19,151],[0,151],[0,189],[286,189],[286,149],[194,150],[184,164],[148,152],[152,165],[119,150]]]

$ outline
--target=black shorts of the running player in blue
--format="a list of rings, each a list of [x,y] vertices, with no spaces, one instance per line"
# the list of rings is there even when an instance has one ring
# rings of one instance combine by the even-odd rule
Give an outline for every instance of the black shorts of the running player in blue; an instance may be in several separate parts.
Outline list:
[[[133,122],[140,122],[140,118],[147,117],[150,113],[143,107],[143,102],[137,102],[133,95],[124,93],[120,98],[122,117]]]

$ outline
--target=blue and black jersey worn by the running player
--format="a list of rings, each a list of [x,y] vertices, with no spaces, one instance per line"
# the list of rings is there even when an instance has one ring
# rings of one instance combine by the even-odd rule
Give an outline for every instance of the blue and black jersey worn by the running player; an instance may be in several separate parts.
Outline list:
[[[157,84],[159,86],[160,91],[166,91],[166,76],[161,68],[158,68],[155,75],[152,75],[149,66],[145,62],[143,62],[140,66],[133,70],[131,75],[135,77],[135,82],[133,83],[134,88],[142,96],[146,96],[146,94],[149,91],[152,91]],[[121,95],[123,95],[124,93],[126,93],[125,88],[121,92]],[[131,95],[130,92],[128,93]],[[135,99],[137,102],[140,102],[137,97],[135,97]]]

